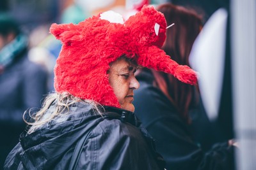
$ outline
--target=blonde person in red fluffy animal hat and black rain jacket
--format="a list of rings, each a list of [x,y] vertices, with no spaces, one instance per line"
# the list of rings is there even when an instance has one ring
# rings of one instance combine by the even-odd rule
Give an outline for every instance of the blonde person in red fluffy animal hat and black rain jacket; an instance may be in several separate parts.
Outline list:
[[[164,169],[154,141],[134,115],[137,67],[196,83],[196,73],[160,47],[166,20],[144,6],[128,20],[106,11],[79,24],[52,24],[62,43],[54,89],[28,131],[8,155],[5,169]],[[24,115],[26,118],[26,115]]]

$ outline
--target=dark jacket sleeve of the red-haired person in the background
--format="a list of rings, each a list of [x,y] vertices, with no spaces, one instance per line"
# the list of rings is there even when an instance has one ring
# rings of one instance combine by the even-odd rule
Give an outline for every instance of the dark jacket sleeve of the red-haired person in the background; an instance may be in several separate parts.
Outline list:
[[[233,149],[227,143],[203,152],[191,139],[188,126],[180,119],[161,92],[143,85],[135,92],[135,113],[156,140],[156,149],[166,160],[166,169],[232,169]]]

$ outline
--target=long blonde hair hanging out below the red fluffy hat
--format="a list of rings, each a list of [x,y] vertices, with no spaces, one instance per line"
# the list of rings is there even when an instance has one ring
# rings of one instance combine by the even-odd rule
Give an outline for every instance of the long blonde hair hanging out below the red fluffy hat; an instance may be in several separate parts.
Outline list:
[[[33,115],[31,114],[33,110],[25,111],[23,115],[23,120],[26,122],[26,124],[31,125],[31,127],[28,130],[28,134],[35,132],[37,129],[42,127],[42,125],[46,124],[47,122],[50,122],[53,118],[68,115],[69,107],[77,102],[90,104],[93,110],[95,111],[95,114],[102,115],[102,111],[100,111],[100,108],[103,107],[95,101],[83,100],[79,97],[75,97],[71,94],[68,94],[68,92],[63,92],[61,94],[54,92],[48,94],[48,96],[45,97],[44,103],[42,104],[42,108],[36,113],[33,113]],[[47,110],[50,106],[54,106],[54,111],[48,114]],[[29,115],[29,120],[26,120],[27,118],[25,118],[27,114]],[[62,121],[65,120],[63,119]]]

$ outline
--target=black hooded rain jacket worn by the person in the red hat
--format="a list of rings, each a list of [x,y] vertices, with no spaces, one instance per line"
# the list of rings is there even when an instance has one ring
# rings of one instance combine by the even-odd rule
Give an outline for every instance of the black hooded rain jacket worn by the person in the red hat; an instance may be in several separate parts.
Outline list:
[[[50,113],[51,113],[50,107]],[[87,136],[76,169],[163,169],[162,157],[133,113],[106,108],[95,114],[77,103],[70,113],[20,137],[4,169],[68,169],[79,139]]]

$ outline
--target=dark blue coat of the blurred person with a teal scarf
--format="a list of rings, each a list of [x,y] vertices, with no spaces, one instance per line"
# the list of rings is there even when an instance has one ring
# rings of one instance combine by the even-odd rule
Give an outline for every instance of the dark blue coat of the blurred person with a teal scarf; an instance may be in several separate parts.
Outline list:
[[[29,61],[26,50],[0,73],[0,169],[19,141],[26,126],[22,115],[28,108],[40,108],[47,94],[47,71]]]

